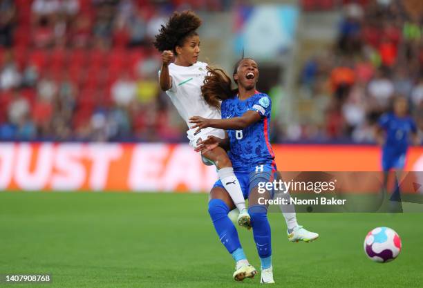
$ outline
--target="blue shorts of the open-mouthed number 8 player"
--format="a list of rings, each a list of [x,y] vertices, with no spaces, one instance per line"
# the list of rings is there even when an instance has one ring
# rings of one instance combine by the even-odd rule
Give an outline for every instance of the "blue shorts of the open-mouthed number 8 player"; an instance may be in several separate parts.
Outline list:
[[[260,164],[252,168],[252,171],[237,172],[234,171],[236,178],[238,178],[241,190],[243,191],[244,199],[250,196],[250,192],[256,186],[259,186],[260,182],[272,182],[276,179],[276,171],[273,164]],[[214,187],[222,187],[222,182],[219,180],[214,183]],[[273,194],[273,190],[272,190]],[[273,198],[273,195],[271,195]]]

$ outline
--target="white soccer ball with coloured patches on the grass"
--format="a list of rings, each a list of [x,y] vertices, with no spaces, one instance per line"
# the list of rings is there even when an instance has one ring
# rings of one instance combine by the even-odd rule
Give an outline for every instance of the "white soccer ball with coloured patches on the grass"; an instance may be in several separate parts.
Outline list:
[[[364,252],[375,262],[389,262],[397,258],[401,251],[401,238],[388,227],[377,227],[367,233],[364,239]]]

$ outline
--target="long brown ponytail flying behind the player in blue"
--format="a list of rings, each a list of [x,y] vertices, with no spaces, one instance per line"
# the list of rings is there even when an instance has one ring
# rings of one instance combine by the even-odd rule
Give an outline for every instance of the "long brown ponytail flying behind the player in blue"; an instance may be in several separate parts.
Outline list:
[[[207,67],[207,71],[204,84],[201,86],[201,95],[207,104],[220,109],[220,100],[234,97],[238,89],[232,89],[231,78],[223,69]]]

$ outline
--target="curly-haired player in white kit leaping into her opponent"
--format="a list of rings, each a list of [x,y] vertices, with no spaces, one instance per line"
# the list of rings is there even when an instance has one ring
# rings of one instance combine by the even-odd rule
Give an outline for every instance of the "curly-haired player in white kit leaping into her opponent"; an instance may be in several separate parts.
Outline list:
[[[187,122],[189,144],[196,148],[200,140],[209,136],[225,138],[225,131],[206,128],[195,134],[190,128],[189,118],[200,115],[204,118],[220,119],[220,110],[209,106],[201,95],[201,86],[207,75],[207,64],[197,61],[200,53],[200,38],[196,30],[201,19],[191,11],[173,12],[166,25],[162,26],[154,46],[162,52],[162,67],[159,72],[160,88],[167,93],[180,116]],[[172,59],[175,59],[171,63]],[[218,176],[240,211],[238,224],[250,227],[250,215],[245,208],[241,186],[236,179],[232,162],[221,147],[202,153],[205,164],[214,164]]]

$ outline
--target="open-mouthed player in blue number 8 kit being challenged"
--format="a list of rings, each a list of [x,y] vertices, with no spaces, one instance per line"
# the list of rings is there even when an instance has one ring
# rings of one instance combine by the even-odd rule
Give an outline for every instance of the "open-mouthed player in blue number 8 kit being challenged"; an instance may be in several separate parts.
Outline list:
[[[254,59],[245,58],[234,67],[234,81],[238,89],[232,90],[231,79],[223,70],[208,68],[202,94],[211,106],[220,106],[222,119],[191,117],[190,122],[197,131],[207,127],[227,130],[227,137],[209,136],[202,140],[197,151],[215,146],[230,147],[229,158],[241,184],[245,198],[249,199],[249,213],[254,241],[261,260],[261,283],[274,283],[272,271],[272,245],[270,225],[267,220],[267,205],[259,198],[271,199],[272,191],[259,193],[259,182],[270,182],[275,177],[276,164],[269,141],[271,100],[256,90],[259,69]],[[223,102],[220,105],[220,100]],[[263,202],[263,201],[262,201]],[[223,184],[218,180],[210,192],[209,214],[220,242],[236,261],[235,280],[252,278],[256,269],[250,265],[238,239],[238,233],[227,214],[234,208]],[[306,229],[300,228],[301,231]],[[317,238],[317,233],[309,233]]]

